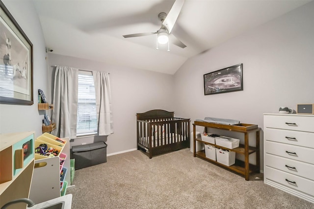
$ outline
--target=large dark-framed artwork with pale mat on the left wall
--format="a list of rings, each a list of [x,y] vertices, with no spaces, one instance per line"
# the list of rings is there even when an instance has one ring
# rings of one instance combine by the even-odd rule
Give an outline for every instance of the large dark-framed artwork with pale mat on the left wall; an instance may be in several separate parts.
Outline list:
[[[0,103],[33,104],[33,45],[0,1]]]

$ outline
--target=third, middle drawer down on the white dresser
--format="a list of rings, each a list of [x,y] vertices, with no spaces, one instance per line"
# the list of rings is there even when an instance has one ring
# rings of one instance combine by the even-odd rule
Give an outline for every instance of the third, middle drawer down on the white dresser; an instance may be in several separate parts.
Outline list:
[[[265,141],[264,152],[314,164],[314,149],[290,144]]]

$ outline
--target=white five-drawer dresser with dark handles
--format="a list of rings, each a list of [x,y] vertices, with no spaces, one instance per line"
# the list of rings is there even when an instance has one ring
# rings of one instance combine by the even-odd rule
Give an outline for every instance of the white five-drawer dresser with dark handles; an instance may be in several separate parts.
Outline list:
[[[314,115],[264,114],[264,183],[314,203]]]

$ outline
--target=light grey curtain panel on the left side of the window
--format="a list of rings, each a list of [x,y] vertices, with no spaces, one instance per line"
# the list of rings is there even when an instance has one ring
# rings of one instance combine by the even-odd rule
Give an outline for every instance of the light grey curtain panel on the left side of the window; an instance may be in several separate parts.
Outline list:
[[[78,69],[56,66],[53,89],[53,116],[56,128],[54,136],[60,138],[77,136]]]

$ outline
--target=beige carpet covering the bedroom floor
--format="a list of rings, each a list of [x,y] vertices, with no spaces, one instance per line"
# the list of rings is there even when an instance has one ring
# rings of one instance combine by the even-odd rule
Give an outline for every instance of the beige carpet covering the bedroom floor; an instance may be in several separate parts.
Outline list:
[[[314,204],[199,158],[189,149],[149,159],[140,151],[76,170],[72,209],[314,209]]]

